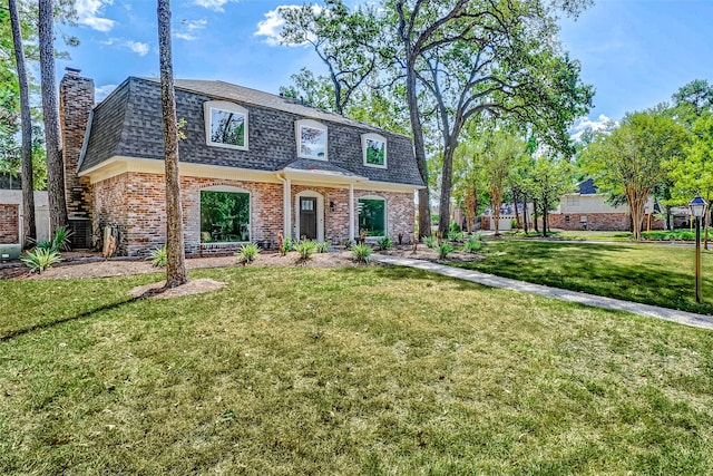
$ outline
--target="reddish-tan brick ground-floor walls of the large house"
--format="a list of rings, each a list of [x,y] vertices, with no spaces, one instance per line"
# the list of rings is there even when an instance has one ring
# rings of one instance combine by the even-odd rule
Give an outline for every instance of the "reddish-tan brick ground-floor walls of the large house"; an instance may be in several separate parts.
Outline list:
[[[187,255],[205,255],[235,251],[238,244],[201,244],[201,191],[213,186],[229,186],[251,194],[251,242],[274,247],[283,230],[283,185],[182,176],[180,191],[184,213],[184,236]],[[315,192],[324,200],[324,237],[340,243],[349,236],[349,190],[293,185],[292,200],[301,192]],[[125,173],[101,181],[94,186],[95,245],[101,246],[105,226],[117,234],[118,255],[146,255],[165,244],[166,191],[164,176],[146,173]],[[402,233],[404,243],[413,235],[416,208],[410,193],[354,191],[356,203],[362,196],[381,197],[387,202],[387,227],[395,242]],[[330,204],[334,203],[334,211]],[[291,204],[292,223],[299,218]],[[354,225],[358,232],[356,224]]]

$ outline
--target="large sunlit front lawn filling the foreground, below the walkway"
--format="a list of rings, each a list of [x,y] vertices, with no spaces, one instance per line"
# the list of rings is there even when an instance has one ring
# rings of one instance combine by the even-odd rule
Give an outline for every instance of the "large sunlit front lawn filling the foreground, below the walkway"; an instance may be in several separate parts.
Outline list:
[[[0,282],[1,474],[711,474],[713,333],[389,268]]]

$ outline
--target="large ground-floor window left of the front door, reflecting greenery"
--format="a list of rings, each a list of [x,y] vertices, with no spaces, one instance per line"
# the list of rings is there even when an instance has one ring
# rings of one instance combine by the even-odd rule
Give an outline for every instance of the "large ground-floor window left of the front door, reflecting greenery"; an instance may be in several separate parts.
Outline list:
[[[201,242],[250,241],[250,194],[201,192]]]

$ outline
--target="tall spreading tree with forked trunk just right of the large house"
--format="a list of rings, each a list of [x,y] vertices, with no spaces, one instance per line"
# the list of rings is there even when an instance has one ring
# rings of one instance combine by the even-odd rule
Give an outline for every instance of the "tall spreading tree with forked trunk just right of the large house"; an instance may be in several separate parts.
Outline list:
[[[507,116],[529,124],[553,146],[568,147],[567,128],[588,110],[593,89],[579,65],[561,54],[553,31],[559,11],[577,14],[586,1],[395,0],[394,55],[404,70],[417,161],[426,167],[417,84],[428,91],[442,137],[441,232],[448,230],[452,157],[472,117]],[[522,28],[527,25],[527,28]],[[395,42],[395,41],[394,41]]]

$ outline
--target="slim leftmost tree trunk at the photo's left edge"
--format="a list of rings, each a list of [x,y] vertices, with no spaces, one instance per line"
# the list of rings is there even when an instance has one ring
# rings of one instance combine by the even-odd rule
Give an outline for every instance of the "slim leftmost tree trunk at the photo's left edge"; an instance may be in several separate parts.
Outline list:
[[[35,177],[32,176],[32,116],[30,115],[30,87],[25,66],[25,50],[22,49],[22,31],[16,0],[8,0],[12,42],[14,45],[14,61],[18,68],[18,84],[20,86],[20,123],[22,132],[22,247],[29,249],[37,241],[37,225],[35,222]]]

